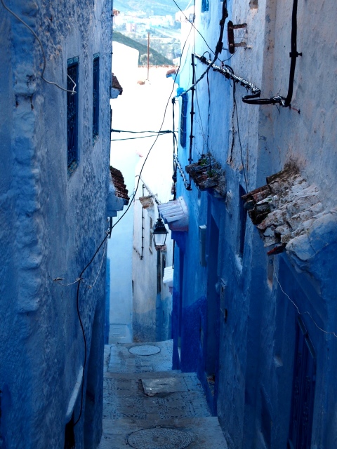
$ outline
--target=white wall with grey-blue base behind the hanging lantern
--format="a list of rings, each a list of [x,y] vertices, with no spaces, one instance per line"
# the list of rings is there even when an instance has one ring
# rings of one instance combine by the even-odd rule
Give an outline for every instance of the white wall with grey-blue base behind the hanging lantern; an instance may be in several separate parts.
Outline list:
[[[147,182],[151,182],[151,177]],[[160,197],[160,193],[157,196],[140,180],[133,229],[133,340],[136,342],[171,339],[172,295],[163,279],[165,269],[172,266],[173,242],[168,231],[166,244],[157,248],[152,233],[159,217]]]

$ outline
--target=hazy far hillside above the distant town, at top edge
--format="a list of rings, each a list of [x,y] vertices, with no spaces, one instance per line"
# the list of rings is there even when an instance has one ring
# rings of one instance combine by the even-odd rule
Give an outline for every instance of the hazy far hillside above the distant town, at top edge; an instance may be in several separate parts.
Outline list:
[[[177,0],[183,10],[189,3],[189,0]],[[174,15],[179,11],[172,0],[114,0],[114,9],[123,13],[144,11],[148,15]]]

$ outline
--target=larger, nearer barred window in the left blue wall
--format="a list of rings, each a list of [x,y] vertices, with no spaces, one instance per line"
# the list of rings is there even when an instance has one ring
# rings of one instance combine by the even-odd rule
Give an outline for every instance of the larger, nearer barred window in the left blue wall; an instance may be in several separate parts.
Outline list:
[[[71,78],[71,79],[70,79]],[[76,93],[67,92],[67,164],[71,174],[77,167],[78,158],[78,122],[79,122],[79,60],[67,61],[67,90],[72,91],[76,83]],[[74,81],[74,82],[73,82]]]

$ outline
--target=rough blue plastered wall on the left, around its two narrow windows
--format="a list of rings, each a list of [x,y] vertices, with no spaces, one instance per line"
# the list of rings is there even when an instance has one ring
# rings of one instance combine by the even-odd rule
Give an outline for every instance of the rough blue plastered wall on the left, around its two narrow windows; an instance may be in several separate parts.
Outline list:
[[[41,48],[1,5],[1,446],[63,448],[65,424],[79,448],[100,440],[105,237],[110,139],[110,1],[9,2],[39,35],[44,76],[67,84],[79,57],[79,160],[67,173],[67,94],[41,79]],[[93,55],[100,53],[100,131],[92,140]],[[102,268],[100,265],[102,263]],[[88,288],[95,281],[93,288]],[[74,407],[72,410],[72,399]],[[68,413],[67,413],[68,410]],[[70,415],[69,415],[70,413]],[[84,432],[84,422],[86,431]]]

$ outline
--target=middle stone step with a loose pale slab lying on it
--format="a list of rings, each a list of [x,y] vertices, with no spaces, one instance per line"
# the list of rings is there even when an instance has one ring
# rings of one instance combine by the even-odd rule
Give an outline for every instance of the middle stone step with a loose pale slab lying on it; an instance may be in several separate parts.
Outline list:
[[[211,416],[197,375],[171,374],[105,373],[103,417],[146,420]]]

